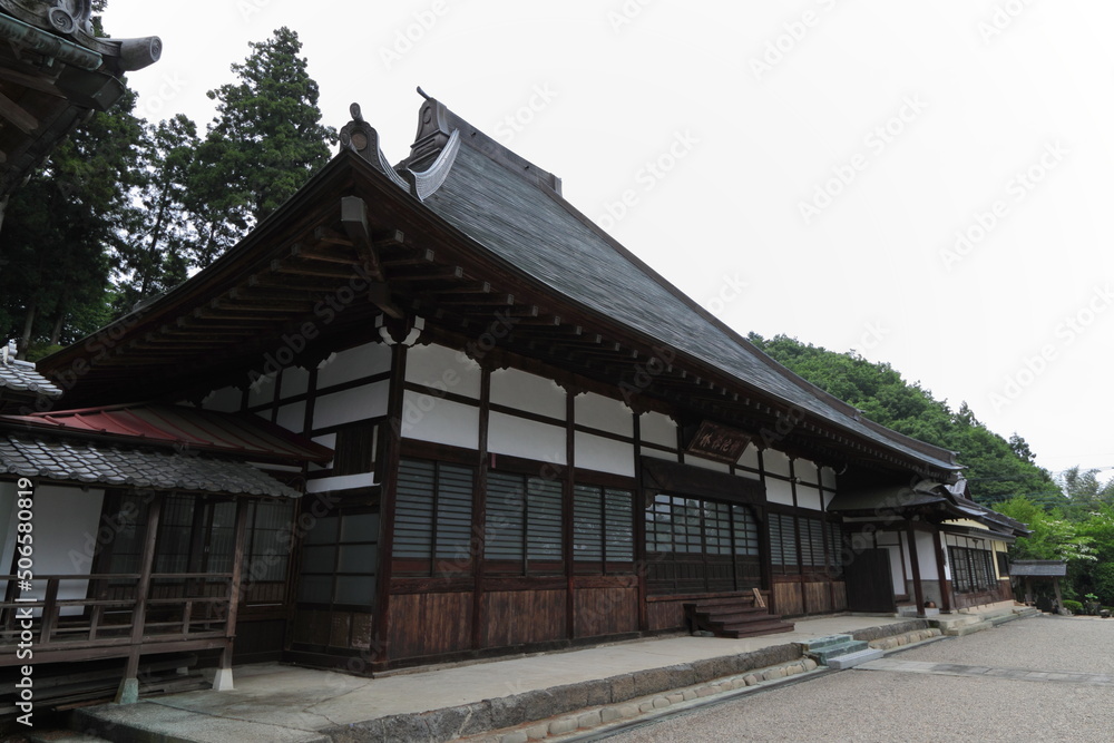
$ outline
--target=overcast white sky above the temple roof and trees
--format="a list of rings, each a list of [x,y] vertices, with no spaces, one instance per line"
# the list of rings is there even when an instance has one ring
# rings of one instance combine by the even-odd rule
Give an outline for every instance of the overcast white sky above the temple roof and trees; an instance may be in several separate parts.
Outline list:
[[[1114,467],[1108,1],[109,0],[105,16],[115,37],[163,39],[130,76],[140,113],[203,129],[205,91],[280,26],[324,123],[359,101],[392,160],[420,85],[740,332],[889,362],[1049,470]]]

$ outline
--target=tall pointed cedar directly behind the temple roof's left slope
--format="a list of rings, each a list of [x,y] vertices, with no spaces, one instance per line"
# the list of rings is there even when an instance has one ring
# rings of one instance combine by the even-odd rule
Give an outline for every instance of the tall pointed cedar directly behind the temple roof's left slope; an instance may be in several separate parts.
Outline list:
[[[280,28],[233,65],[240,82],[208,91],[217,116],[197,149],[188,207],[204,267],[294,195],[330,157],[336,130],[321,125],[317,84],[297,33]]]

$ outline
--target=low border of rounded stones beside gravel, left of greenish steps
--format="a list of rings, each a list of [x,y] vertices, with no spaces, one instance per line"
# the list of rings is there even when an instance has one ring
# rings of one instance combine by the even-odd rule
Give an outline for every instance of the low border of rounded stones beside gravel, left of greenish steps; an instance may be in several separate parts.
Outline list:
[[[824,668],[818,667],[812,658],[801,658],[793,663],[755,668],[751,673],[717,678],[707,684],[675,688],[664,694],[641,696],[618,705],[580,710],[575,714],[538,720],[510,730],[494,731],[465,740],[468,743],[528,743],[529,741],[545,740],[556,743],[569,739],[571,733],[579,736],[600,732],[598,729],[608,729],[635,720],[651,720],[663,714],[707,704],[716,697],[739,696],[746,691],[758,691],[760,687],[784,683],[793,676],[825,672]]]

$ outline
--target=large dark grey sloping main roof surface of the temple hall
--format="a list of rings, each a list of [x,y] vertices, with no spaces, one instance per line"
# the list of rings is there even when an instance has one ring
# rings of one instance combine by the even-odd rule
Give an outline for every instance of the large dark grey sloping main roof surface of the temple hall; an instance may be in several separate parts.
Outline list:
[[[774,364],[666,289],[664,280],[585,224],[567,202],[472,146],[460,148],[444,184],[426,205],[509,265],[590,311],[857,436],[940,469],[959,469],[949,452],[929,453],[926,449],[935,448],[839,410],[847,403],[824,400],[827,393],[819,388]]]

